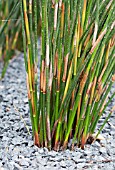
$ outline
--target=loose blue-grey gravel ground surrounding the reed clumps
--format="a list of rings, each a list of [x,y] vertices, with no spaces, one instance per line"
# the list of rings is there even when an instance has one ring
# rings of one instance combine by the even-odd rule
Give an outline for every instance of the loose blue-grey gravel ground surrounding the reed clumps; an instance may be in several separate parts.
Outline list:
[[[115,84],[111,93],[114,89]],[[115,98],[105,115],[113,104]],[[97,128],[103,120],[100,119]],[[105,140],[86,145],[85,150],[49,152],[37,148],[28,129],[31,133],[25,69],[20,56],[10,62],[0,82],[0,170],[115,169],[115,113],[102,131]]]

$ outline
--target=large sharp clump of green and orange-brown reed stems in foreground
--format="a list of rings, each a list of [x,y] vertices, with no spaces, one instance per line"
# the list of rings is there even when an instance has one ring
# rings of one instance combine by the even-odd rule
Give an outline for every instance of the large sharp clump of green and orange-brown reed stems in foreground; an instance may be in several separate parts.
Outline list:
[[[20,1],[28,100],[38,147],[57,151],[71,139],[72,149],[83,149],[95,132],[115,95],[108,98],[115,81],[114,8],[114,0]]]

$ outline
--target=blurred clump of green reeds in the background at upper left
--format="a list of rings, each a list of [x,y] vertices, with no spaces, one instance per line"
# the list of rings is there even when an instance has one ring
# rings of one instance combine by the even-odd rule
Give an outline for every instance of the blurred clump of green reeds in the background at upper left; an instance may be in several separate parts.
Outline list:
[[[0,60],[4,62],[1,78],[4,77],[9,60],[15,49],[22,49],[19,43],[21,33],[20,2],[0,2]],[[21,39],[20,39],[21,40]]]

